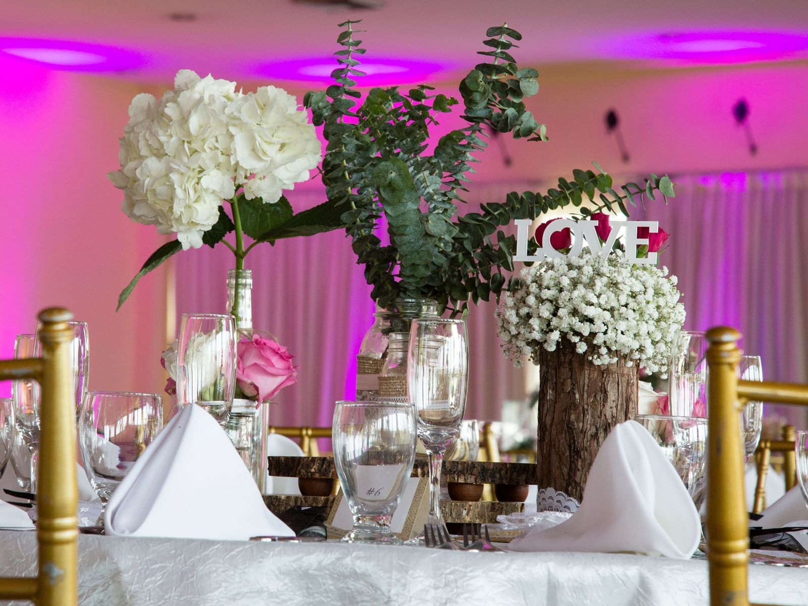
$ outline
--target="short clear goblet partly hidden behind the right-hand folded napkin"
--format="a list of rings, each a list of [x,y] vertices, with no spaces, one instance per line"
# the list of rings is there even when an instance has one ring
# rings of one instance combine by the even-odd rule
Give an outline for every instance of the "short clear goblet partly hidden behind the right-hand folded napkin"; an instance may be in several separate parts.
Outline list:
[[[698,484],[704,474],[707,452],[707,419],[701,417],[671,417],[667,415],[637,415],[637,423],[645,427],[663,449],[668,461],[688,489],[694,503],[699,498]],[[701,503],[697,503],[701,505]]]

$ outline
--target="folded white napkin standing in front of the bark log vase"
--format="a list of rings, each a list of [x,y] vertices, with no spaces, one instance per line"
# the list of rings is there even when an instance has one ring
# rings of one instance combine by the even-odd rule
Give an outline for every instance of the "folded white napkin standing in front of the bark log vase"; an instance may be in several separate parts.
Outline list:
[[[612,430],[595,457],[578,511],[511,541],[515,551],[635,552],[687,559],[701,537],[696,507],[645,427]]]

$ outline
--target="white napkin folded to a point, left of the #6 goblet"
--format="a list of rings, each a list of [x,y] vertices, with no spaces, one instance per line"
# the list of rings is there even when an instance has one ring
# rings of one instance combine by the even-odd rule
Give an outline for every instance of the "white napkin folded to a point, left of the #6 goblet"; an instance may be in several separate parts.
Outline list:
[[[294,532],[267,510],[225,431],[185,406],[120,482],[104,527],[118,537],[246,541]]]

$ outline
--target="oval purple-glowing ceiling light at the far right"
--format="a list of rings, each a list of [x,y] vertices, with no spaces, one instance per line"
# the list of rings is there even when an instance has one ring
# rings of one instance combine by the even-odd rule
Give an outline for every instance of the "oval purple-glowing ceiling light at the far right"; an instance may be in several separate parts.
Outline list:
[[[808,56],[808,32],[673,32],[631,36],[612,46],[630,58],[730,64]],[[607,51],[608,52],[608,51]]]

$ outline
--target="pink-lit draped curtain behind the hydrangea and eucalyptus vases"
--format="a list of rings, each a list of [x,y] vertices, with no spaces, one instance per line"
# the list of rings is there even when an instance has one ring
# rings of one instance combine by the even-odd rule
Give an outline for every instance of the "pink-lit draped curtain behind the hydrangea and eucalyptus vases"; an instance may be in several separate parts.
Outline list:
[[[465,213],[481,202],[502,201],[506,191],[536,184],[481,184]],[[320,189],[294,191],[296,210],[324,200]],[[381,235],[381,234],[380,234]],[[225,310],[227,270],[234,257],[224,246],[203,246],[175,256],[176,314]],[[371,288],[356,264],[343,230],[311,238],[262,244],[246,258],[253,271],[253,326],[269,330],[300,365],[297,385],[283,389],[271,412],[276,425],[330,427],[334,402],[356,395],[356,353],[373,322]],[[525,396],[524,370],[513,368],[499,347],[494,301],[471,308],[467,318],[470,368],[466,419],[499,420],[505,399]]]

